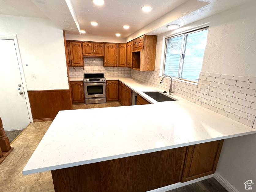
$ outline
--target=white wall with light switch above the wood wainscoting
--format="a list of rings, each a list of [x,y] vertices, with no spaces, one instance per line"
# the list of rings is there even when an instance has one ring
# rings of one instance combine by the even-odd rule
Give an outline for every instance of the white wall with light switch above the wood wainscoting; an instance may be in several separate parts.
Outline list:
[[[28,90],[68,89],[61,29],[48,19],[0,15],[1,32],[17,34]]]

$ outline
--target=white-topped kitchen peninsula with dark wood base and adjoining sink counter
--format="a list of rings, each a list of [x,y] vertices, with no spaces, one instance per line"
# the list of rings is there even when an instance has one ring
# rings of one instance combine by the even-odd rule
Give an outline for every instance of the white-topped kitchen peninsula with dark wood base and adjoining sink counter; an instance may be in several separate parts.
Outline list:
[[[177,96],[158,103],[142,92],[160,91],[149,84],[114,79],[152,104],[59,111],[24,175],[51,171],[55,191],[154,190],[213,174],[224,139],[256,133]]]

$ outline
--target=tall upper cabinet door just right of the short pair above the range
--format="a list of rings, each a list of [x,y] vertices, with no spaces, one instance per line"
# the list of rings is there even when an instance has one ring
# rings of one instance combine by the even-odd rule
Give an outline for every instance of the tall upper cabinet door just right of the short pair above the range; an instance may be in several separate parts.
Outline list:
[[[117,44],[105,44],[104,66],[117,66]]]

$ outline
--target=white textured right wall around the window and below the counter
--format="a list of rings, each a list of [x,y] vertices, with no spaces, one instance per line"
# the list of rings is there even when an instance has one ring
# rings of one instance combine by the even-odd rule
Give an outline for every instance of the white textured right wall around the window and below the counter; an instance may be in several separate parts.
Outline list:
[[[163,65],[163,37],[209,22],[202,71],[256,76],[256,2],[194,22],[157,36],[156,69]],[[238,191],[247,180],[256,182],[256,134],[224,141],[216,169]],[[253,186],[256,188],[256,185]]]

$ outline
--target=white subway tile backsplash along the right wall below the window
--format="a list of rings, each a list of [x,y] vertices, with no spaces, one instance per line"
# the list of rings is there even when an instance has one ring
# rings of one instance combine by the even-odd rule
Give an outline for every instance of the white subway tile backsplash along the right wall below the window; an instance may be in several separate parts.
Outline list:
[[[94,66],[92,66],[93,70]],[[165,79],[163,85],[159,82],[159,69],[142,72],[131,70],[131,77],[168,91],[170,79]],[[117,72],[118,73],[118,72]],[[79,74],[77,74],[79,75]],[[127,73],[127,76],[129,72]],[[203,94],[202,85],[209,85],[209,95]],[[233,76],[219,73],[201,72],[198,85],[173,80],[174,94],[215,111],[228,118],[251,125],[256,129],[256,77]],[[253,124],[253,125],[252,125]]]

